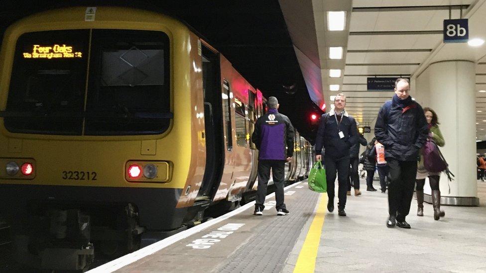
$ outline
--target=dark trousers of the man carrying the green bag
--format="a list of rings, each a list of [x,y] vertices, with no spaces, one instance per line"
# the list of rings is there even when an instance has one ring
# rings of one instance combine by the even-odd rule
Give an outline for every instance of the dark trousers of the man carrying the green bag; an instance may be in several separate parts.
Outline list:
[[[348,189],[349,177],[349,156],[342,158],[325,157],[326,160],[326,180],[327,180],[327,196],[329,202],[334,203],[334,182],[336,181],[336,172],[338,175],[338,207],[344,208],[346,206],[346,191]]]

